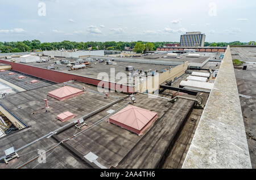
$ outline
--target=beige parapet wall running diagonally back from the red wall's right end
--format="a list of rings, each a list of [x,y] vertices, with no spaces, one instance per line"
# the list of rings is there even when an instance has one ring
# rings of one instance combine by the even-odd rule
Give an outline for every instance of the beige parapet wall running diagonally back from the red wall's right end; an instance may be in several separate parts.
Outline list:
[[[188,62],[185,62],[179,66],[175,66],[167,70],[166,72],[160,72],[158,76],[148,76],[148,79],[142,83],[135,84],[134,92],[146,92],[152,94],[153,91],[159,89],[159,85],[170,80],[174,80],[183,75],[188,69]],[[152,83],[152,85],[151,85]],[[155,83],[157,83],[155,85]],[[151,88],[152,87],[152,88]]]

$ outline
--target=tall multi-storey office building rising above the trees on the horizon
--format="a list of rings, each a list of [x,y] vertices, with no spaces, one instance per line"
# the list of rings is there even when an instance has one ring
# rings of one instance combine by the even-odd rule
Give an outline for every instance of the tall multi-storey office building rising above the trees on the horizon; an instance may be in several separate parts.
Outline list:
[[[181,47],[204,46],[205,35],[201,32],[187,32],[180,36]]]

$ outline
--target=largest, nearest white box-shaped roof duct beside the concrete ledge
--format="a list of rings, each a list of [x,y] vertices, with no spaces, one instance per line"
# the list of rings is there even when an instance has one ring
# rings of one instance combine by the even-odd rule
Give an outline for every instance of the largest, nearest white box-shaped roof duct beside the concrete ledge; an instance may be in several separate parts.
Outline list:
[[[214,83],[197,82],[195,80],[182,80],[180,86],[184,89],[191,89],[194,91],[210,92],[212,91]]]

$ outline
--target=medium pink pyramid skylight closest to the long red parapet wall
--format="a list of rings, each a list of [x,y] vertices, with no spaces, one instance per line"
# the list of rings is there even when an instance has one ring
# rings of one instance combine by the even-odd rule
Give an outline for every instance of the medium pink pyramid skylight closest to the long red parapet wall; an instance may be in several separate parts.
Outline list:
[[[59,89],[55,89],[48,93],[48,96],[56,98],[59,101],[67,100],[68,98],[81,95],[83,91],[81,89],[73,88],[70,86],[64,86]]]

